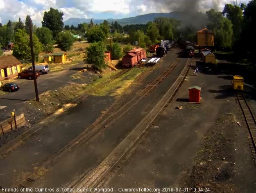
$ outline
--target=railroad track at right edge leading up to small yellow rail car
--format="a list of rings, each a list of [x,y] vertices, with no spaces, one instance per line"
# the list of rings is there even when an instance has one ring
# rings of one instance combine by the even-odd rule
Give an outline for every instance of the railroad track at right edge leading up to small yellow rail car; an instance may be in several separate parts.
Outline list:
[[[244,94],[242,92],[237,92],[236,97],[238,99],[238,104],[242,110],[242,114],[244,115],[245,123],[249,130],[249,134],[250,134],[251,142],[252,142],[252,146],[250,146],[251,153],[253,155],[254,162],[256,163],[256,154],[255,154],[255,152],[256,152],[256,119],[254,117],[254,114],[253,114],[249,104],[247,103],[247,101],[245,99]]]

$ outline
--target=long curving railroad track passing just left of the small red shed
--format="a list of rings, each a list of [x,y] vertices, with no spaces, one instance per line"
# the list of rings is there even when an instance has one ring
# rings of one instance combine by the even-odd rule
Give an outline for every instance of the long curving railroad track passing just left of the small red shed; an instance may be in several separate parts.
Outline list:
[[[163,112],[174,99],[175,94],[181,87],[189,70],[191,59],[188,59],[180,76],[165,93],[155,107],[147,114],[147,116],[132,130],[129,135],[104,159],[103,162],[91,173],[79,177],[79,180],[70,184],[71,189],[77,188],[94,188],[101,180],[111,171],[111,169],[120,161],[120,159],[129,151],[129,149],[138,141],[143,132],[151,125],[156,117]]]

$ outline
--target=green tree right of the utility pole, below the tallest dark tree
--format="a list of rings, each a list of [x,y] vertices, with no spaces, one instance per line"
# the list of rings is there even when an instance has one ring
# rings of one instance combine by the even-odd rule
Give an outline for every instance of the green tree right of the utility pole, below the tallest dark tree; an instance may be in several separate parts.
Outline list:
[[[52,34],[49,28],[39,27],[36,29],[36,36],[39,38],[39,41],[43,44],[43,50],[45,52],[53,51],[53,42]]]

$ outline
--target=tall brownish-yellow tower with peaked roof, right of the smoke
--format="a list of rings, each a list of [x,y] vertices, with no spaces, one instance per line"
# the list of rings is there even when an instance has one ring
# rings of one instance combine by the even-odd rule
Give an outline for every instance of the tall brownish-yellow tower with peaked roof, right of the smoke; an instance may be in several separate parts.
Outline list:
[[[214,33],[207,28],[197,31],[197,45],[200,47],[214,46]]]

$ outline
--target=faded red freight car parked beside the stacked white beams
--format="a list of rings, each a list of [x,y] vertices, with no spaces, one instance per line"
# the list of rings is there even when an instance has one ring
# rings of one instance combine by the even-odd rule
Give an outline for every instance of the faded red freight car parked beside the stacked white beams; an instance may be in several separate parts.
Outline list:
[[[132,67],[146,58],[146,51],[142,48],[132,49],[122,58],[123,67]]]

